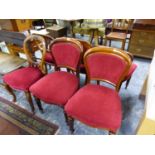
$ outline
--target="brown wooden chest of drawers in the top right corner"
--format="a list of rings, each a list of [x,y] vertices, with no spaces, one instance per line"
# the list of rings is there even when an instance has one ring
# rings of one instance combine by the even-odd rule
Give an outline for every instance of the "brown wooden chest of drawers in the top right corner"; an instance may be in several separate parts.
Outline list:
[[[152,58],[155,49],[155,19],[136,19],[133,23],[129,51],[139,57]]]

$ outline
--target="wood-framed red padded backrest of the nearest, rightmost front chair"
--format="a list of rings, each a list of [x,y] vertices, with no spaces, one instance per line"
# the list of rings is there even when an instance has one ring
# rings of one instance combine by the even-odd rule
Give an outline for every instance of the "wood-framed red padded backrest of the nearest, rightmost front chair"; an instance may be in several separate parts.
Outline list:
[[[89,49],[84,55],[87,83],[91,80],[107,82],[119,91],[131,66],[131,58],[123,50],[99,46]]]

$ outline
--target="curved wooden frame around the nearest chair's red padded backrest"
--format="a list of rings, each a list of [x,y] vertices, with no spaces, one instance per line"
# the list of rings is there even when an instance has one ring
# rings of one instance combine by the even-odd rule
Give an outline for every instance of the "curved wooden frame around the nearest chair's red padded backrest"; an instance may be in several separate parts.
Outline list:
[[[109,55],[109,56],[116,56],[126,63],[126,68],[125,68],[124,72],[122,73],[122,76],[117,81],[117,83],[111,82],[110,80],[103,79],[103,78],[95,78],[94,79],[94,78],[90,77],[90,71],[89,71],[88,64],[87,64],[86,60],[89,56],[91,56],[93,54],[104,54],[104,55]],[[115,86],[117,91],[119,91],[121,83],[122,83],[125,75],[128,73],[131,63],[132,63],[130,56],[125,51],[123,51],[121,49],[112,48],[112,47],[106,47],[106,46],[98,46],[98,47],[93,47],[93,48],[89,49],[84,54],[83,60],[84,60],[84,64],[85,64],[87,75],[88,75],[87,83],[89,83],[90,80],[104,81],[104,82],[107,82],[107,83]]]

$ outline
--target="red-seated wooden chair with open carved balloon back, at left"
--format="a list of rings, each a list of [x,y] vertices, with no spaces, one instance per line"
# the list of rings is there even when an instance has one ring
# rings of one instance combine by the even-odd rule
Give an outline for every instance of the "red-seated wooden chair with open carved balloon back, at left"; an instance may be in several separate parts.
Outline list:
[[[13,96],[16,96],[13,89],[24,91],[26,98],[30,104],[32,112],[35,111],[29,87],[46,74],[44,57],[46,53],[45,41],[41,36],[30,35],[24,40],[24,52],[27,57],[28,66],[12,71],[3,76],[5,88]],[[37,61],[36,52],[41,52],[42,58]]]

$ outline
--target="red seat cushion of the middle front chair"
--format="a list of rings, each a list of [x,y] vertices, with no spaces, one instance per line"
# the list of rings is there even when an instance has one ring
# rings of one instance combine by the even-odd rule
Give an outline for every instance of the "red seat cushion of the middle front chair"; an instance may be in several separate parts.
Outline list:
[[[30,87],[30,91],[49,104],[64,105],[78,89],[78,85],[75,75],[58,71],[44,76]]]

